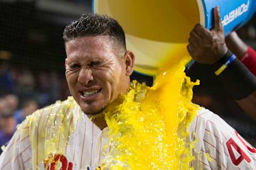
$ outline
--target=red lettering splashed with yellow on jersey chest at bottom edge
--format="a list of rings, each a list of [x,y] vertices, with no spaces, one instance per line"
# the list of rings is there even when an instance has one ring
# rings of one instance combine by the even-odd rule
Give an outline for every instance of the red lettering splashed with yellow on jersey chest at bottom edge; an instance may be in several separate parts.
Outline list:
[[[73,163],[69,163],[68,159],[64,155],[50,154],[48,158],[44,160],[44,169],[47,170],[72,170]]]

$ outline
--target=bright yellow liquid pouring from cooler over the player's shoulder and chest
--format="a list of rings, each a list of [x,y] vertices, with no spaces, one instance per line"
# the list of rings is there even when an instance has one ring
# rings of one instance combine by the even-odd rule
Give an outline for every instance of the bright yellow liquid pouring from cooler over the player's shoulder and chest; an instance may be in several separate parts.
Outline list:
[[[103,169],[189,169],[194,143],[185,138],[199,109],[191,103],[199,82],[183,72],[187,60],[159,74],[151,88],[133,81],[129,93],[106,108],[111,150]]]

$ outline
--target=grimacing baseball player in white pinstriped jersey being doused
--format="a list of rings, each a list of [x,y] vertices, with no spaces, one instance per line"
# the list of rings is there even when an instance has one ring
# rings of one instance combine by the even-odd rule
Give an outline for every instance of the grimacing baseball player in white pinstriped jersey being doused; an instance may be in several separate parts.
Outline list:
[[[73,97],[40,109],[19,126],[0,156],[1,170],[100,169],[102,151],[111,150],[100,113],[129,89],[134,54],[126,50],[122,27],[108,16],[84,14],[65,28],[63,38]],[[91,115],[97,116],[91,121]],[[190,167],[256,169],[255,148],[209,110],[198,111],[189,129],[187,140],[197,139]]]

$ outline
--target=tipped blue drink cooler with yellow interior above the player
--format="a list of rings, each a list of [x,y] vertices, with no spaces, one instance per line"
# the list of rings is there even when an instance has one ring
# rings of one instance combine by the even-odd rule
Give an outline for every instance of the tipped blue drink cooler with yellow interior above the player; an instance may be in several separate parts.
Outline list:
[[[127,49],[136,56],[135,70],[155,75],[165,62],[188,55],[189,32],[196,23],[210,29],[217,5],[226,35],[256,11],[255,0],[94,0],[92,10],[122,25]]]

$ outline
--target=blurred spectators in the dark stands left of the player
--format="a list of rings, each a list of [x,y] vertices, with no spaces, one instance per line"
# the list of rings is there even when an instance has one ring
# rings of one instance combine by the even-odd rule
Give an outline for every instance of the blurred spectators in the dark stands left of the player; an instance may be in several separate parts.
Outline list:
[[[0,64],[0,146],[11,139],[27,115],[67,98],[69,90],[63,75]]]

